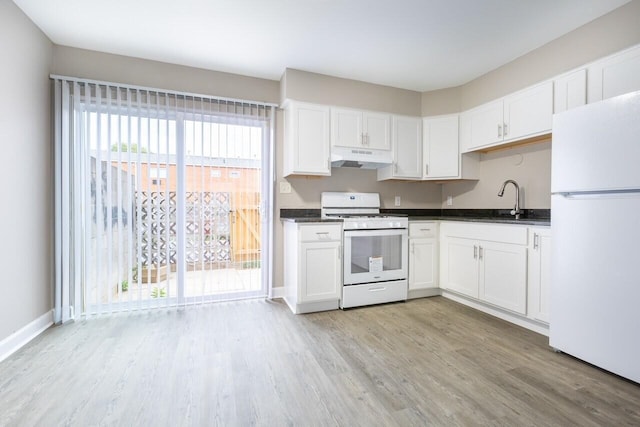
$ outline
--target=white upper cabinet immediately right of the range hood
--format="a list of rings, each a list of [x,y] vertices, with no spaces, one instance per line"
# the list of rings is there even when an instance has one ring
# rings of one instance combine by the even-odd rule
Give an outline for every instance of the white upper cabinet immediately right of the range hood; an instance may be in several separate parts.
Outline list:
[[[422,120],[392,116],[393,164],[378,169],[378,180],[422,178]]]

